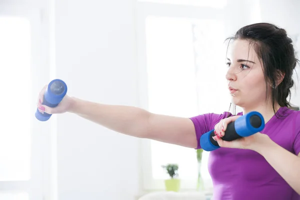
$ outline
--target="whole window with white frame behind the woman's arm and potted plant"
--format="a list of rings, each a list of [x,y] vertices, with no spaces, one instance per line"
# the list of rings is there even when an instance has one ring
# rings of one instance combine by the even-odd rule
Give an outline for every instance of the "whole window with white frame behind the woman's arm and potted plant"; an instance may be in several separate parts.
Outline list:
[[[183,117],[229,108],[224,45],[228,35],[223,18],[214,13],[203,17],[201,11],[190,14],[180,6],[168,10],[155,3],[138,5],[141,107]],[[146,139],[141,146],[144,190],[164,188],[168,176],[161,165],[170,162],[179,165],[181,189],[196,189],[195,149]],[[201,165],[207,190],[212,186],[208,154],[203,152]]]

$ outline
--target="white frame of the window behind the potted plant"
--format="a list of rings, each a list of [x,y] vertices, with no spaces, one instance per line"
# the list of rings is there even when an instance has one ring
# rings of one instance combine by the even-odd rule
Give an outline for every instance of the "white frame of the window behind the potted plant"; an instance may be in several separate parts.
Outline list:
[[[224,9],[212,7],[199,7],[191,5],[163,4],[153,2],[136,3],[136,39],[137,39],[137,60],[138,60],[138,91],[139,106],[148,110],[147,95],[147,71],[146,71],[146,35],[145,20],[147,16],[184,17],[192,19],[217,19],[223,20]],[[140,162],[141,162],[141,188],[143,191],[164,189],[163,180],[152,178],[150,140],[140,141]],[[195,158],[196,159],[196,158]],[[182,190],[195,190],[195,180],[181,179]]]

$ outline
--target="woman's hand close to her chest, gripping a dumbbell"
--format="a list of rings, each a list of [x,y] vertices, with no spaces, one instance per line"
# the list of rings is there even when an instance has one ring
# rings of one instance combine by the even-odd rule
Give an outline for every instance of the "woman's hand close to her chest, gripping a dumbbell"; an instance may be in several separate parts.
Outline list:
[[[243,148],[258,151],[258,148],[264,144],[264,141],[269,139],[268,135],[257,132],[250,136],[241,137],[232,141],[225,141],[221,139],[221,137],[225,135],[227,124],[231,121],[235,121],[238,117],[240,116],[230,116],[228,118],[221,119],[217,124],[215,124],[215,136],[213,136],[213,139],[216,140],[218,145],[221,147]]]

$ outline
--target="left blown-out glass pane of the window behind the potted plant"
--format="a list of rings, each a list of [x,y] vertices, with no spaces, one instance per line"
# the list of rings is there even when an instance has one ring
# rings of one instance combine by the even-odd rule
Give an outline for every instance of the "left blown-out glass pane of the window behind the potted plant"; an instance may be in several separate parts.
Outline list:
[[[191,24],[188,20],[147,17],[149,111],[174,116],[196,115],[197,98],[192,39]],[[196,177],[197,165],[194,149],[153,140],[150,143],[154,179],[168,178],[161,170],[161,165],[170,162],[179,164],[178,172],[181,178]]]

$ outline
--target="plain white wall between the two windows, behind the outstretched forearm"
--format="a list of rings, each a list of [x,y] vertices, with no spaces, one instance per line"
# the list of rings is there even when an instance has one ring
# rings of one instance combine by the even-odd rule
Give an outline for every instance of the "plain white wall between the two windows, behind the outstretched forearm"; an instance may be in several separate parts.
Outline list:
[[[56,77],[68,93],[137,105],[133,0],[55,0]],[[58,197],[133,199],[138,139],[72,114],[58,116]]]

